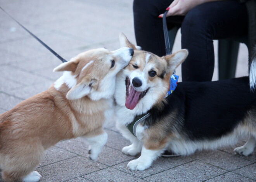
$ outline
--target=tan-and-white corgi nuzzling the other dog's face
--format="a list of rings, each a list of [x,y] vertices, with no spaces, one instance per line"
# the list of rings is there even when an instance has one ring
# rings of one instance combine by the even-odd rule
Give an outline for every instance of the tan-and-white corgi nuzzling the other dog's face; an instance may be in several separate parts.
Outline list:
[[[37,182],[34,171],[45,150],[58,141],[83,136],[96,160],[107,141],[102,125],[113,111],[116,74],[128,65],[132,48],[93,49],[54,71],[64,71],[48,90],[0,115],[0,168],[7,182]]]

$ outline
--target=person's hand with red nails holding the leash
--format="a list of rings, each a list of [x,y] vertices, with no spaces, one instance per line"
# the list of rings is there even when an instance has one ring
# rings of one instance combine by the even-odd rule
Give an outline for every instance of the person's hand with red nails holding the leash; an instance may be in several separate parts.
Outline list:
[[[189,10],[202,3],[204,3],[204,0],[174,0],[166,9],[168,10],[166,17],[173,15],[185,16]],[[163,15],[164,14],[159,15],[159,18],[162,18]]]

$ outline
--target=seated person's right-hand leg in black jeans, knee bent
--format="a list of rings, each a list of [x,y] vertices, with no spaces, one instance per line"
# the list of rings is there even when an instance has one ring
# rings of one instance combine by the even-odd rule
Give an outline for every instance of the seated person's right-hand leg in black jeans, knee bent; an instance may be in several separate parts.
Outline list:
[[[227,39],[247,34],[244,4],[227,0],[204,3],[185,16],[182,48],[189,56],[182,63],[182,81],[211,81],[214,70],[213,39]]]

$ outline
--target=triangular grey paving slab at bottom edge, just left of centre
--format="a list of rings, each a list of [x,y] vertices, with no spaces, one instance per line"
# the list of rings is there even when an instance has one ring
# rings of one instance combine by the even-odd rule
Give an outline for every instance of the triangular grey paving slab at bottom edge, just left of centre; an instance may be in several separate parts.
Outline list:
[[[93,182],[145,182],[142,179],[113,168],[106,168],[83,177],[92,180]]]

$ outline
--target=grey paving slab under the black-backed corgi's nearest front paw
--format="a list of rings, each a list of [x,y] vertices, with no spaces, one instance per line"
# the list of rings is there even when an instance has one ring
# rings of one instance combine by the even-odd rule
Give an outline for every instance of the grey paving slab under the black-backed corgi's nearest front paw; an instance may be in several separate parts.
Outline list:
[[[145,178],[157,173],[161,173],[165,170],[168,170],[173,167],[178,167],[180,165],[183,165],[185,163],[191,162],[193,159],[190,157],[170,157],[170,158],[163,158],[160,157],[156,161],[153,162],[152,166],[144,171],[131,171],[126,168],[126,165],[128,162],[121,163],[119,165],[114,166],[114,168],[121,170],[123,172],[126,172],[128,174],[131,174],[133,176],[139,177],[139,178]]]

